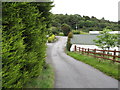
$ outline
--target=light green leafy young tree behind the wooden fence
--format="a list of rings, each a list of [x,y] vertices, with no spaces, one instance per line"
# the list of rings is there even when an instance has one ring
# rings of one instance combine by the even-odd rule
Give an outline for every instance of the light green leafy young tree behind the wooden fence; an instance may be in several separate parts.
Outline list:
[[[118,35],[117,34],[110,34],[109,32],[112,31],[110,29],[104,29],[100,32],[101,35],[97,36],[98,40],[94,40],[96,46],[102,49],[110,49],[115,46],[118,46]]]

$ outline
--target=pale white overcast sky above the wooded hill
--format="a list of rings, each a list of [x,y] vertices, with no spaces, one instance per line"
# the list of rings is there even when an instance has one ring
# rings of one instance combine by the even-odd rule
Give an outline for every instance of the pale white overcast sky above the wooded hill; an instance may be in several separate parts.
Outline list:
[[[53,0],[54,14],[80,14],[95,16],[98,19],[118,21],[118,2],[120,0]]]

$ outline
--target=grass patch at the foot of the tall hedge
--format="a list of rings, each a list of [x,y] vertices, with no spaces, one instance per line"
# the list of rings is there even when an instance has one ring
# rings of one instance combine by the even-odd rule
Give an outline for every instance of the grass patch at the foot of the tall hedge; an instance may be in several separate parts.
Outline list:
[[[31,79],[24,88],[54,88],[53,68],[47,64],[40,76]]]

